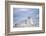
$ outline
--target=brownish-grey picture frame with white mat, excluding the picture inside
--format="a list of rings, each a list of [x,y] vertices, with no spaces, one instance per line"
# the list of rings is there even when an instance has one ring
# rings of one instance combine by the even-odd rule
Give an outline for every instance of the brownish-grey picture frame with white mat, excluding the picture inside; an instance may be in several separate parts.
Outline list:
[[[6,35],[11,34],[35,34],[45,32],[45,4],[20,2],[20,1],[7,1],[6,3]],[[23,6],[24,5],[24,6]],[[13,28],[13,8],[39,8],[39,27],[25,27]]]

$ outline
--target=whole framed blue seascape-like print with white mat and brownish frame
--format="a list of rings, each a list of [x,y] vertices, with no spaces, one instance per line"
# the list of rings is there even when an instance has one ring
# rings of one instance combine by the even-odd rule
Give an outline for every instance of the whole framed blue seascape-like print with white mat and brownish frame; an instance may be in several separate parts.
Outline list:
[[[6,1],[6,35],[36,34],[45,32],[45,4]]]

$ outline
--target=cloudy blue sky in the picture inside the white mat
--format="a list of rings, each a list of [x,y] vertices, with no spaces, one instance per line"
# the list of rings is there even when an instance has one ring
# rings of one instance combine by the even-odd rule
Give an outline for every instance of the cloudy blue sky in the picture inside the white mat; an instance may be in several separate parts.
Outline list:
[[[30,16],[35,24],[39,23],[39,9],[36,8],[13,8],[13,23],[20,23]]]

